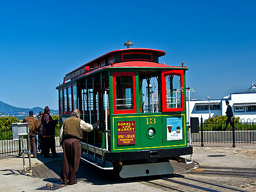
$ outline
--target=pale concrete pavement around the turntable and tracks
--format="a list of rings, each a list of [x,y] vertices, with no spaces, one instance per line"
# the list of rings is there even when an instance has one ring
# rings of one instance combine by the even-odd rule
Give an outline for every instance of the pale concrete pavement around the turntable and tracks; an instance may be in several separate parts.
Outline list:
[[[232,147],[232,144],[215,146],[214,144],[204,144],[204,147],[199,144],[193,145],[193,155],[183,156],[187,159],[192,158],[202,167],[240,167],[240,168],[255,168],[256,169],[256,145],[237,145]],[[62,155],[62,151],[58,149],[57,153]],[[38,155],[37,158],[32,158],[32,165],[47,164],[51,161],[60,161],[62,158],[43,158]],[[26,168],[28,168],[28,158],[25,159]],[[81,167],[82,166],[82,167]],[[17,155],[8,155],[0,157],[0,180],[1,191],[38,191],[47,184],[52,184],[60,178],[43,179],[30,177],[22,174],[23,159]],[[84,170],[86,169],[86,170]],[[102,173],[99,170],[80,165],[78,169],[86,172],[85,179],[78,180],[75,185],[64,186],[62,188],[54,188],[56,191],[155,191],[151,186],[143,185],[140,181],[126,180],[115,181],[110,178],[108,173]],[[29,171],[27,171],[29,173]],[[56,173],[59,175],[60,173]],[[93,175],[96,176],[93,176]],[[97,176],[98,175],[98,176]],[[99,176],[100,175],[100,176]],[[256,179],[251,183],[256,186]],[[48,188],[49,189],[49,188]]]

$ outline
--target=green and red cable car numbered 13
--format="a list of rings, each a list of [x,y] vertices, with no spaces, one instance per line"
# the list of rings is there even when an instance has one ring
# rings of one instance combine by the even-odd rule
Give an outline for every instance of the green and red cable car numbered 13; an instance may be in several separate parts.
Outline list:
[[[131,42],[126,42],[126,45]],[[60,122],[75,108],[87,123],[81,159],[122,178],[173,173],[192,154],[186,138],[185,72],[159,63],[163,50],[113,50],[74,69],[56,87]]]

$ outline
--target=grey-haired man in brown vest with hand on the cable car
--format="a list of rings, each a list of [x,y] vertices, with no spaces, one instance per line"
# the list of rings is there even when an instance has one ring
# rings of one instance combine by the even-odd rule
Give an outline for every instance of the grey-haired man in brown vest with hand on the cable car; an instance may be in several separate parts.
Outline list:
[[[80,140],[83,138],[83,130],[91,132],[98,125],[98,120],[95,124],[91,125],[85,123],[80,119],[80,110],[74,109],[72,116],[67,118],[60,130],[60,142],[63,148],[63,164],[61,170],[62,184],[73,185],[76,184],[75,173],[78,169],[81,157]]]

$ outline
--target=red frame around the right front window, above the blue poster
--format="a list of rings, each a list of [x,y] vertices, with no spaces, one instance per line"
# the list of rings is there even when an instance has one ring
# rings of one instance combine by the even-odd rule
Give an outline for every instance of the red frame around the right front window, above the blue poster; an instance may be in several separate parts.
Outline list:
[[[166,76],[168,75],[178,75],[181,78],[181,108],[167,108],[166,104]],[[181,112],[185,110],[184,107],[184,77],[183,77],[183,70],[162,70],[162,107],[163,112]]]

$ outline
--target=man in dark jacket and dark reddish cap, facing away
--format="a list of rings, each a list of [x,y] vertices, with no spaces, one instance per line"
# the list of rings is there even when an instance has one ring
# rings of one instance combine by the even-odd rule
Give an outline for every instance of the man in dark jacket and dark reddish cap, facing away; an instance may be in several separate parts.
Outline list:
[[[52,151],[53,157],[60,157],[56,153],[55,148],[55,126],[57,124],[56,120],[53,120],[50,115],[50,109],[48,106],[44,108],[44,114],[42,116],[42,133],[44,138],[44,157],[48,158],[50,156],[50,148]]]

